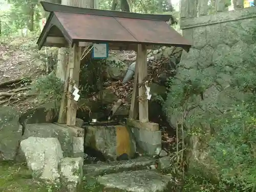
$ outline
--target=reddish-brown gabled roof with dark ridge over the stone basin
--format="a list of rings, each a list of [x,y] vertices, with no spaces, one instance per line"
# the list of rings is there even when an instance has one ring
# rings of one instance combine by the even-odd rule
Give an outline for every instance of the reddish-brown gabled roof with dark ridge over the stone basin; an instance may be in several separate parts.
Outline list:
[[[109,42],[183,47],[191,44],[166,22],[172,15],[140,14],[120,11],[78,8],[41,2],[51,12],[37,44],[65,47],[78,42]],[[47,37],[65,37],[67,45],[47,45]],[[111,47],[110,47],[111,49]]]

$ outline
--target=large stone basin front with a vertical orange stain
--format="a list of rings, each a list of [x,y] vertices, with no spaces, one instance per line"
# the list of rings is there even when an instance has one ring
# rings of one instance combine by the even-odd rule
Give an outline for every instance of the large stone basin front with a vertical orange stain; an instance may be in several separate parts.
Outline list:
[[[136,153],[133,133],[125,126],[87,126],[86,132],[84,145],[101,152],[106,159],[116,160],[122,154],[133,158]]]

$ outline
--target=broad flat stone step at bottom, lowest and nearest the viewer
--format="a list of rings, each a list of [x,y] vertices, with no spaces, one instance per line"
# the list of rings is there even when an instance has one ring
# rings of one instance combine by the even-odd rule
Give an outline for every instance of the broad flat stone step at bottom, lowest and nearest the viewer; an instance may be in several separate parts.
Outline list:
[[[154,170],[136,170],[99,176],[97,182],[103,191],[170,192],[172,176],[161,175]]]

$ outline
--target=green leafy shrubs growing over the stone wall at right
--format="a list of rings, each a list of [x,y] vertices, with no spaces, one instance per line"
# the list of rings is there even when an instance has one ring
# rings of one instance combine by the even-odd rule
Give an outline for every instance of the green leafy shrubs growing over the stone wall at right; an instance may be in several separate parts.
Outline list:
[[[217,75],[208,75],[205,71],[199,70],[189,76],[184,70],[181,72],[184,74],[178,74],[181,80],[170,79],[170,91],[164,103],[165,111],[170,120],[173,114],[185,119],[183,123],[177,121],[180,137],[183,137],[180,135],[180,127],[183,126],[184,137],[199,136],[200,139],[204,139],[200,142],[205,145],[207,156],[212,160],[212,166],[219,178],[217,183],[212,183],[211,180],[200,175],[194,175],[193,178],[185,177],[184,187],[193,188],[196,183],[199,187],[196,187],[195,191],[255,191],[255,29],[256,26],[239,34],[242,40],[239,45],[215,63]],[[242,31],[241,28],[239,31]],[[217,79],[223,74],[231,77],[228,88],[218,86]],[[200,98],[201,93],[205,92],[212,83],[216,84],[220,91],[233,90],[233,94],[229,95],[233,102],[223,112],[217,113],[213,110],[220,106],[219,101],[209,102]],[[202,112],[189,114],[196,108],[201,109]],[[177,151],[179,150],[181,150],[180,145]],[[188,191],[188,188],[184,191]]]

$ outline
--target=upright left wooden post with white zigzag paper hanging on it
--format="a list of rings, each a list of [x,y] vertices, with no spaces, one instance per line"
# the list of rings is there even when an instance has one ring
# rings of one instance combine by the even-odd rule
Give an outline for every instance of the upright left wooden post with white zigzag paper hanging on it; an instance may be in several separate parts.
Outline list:
[[[68,105],[67,105],[67,125],[75,126],[76,124],[76,101],[73,99],[71,94],[74,84],[78,88],[79,83],[79,72],[80,72],[80,57],[81,57],[81,47],[78,44],[74,44],[73,47],[73,62],[70,63],[70,73],[69,73],[69,91],[68,91]]]

